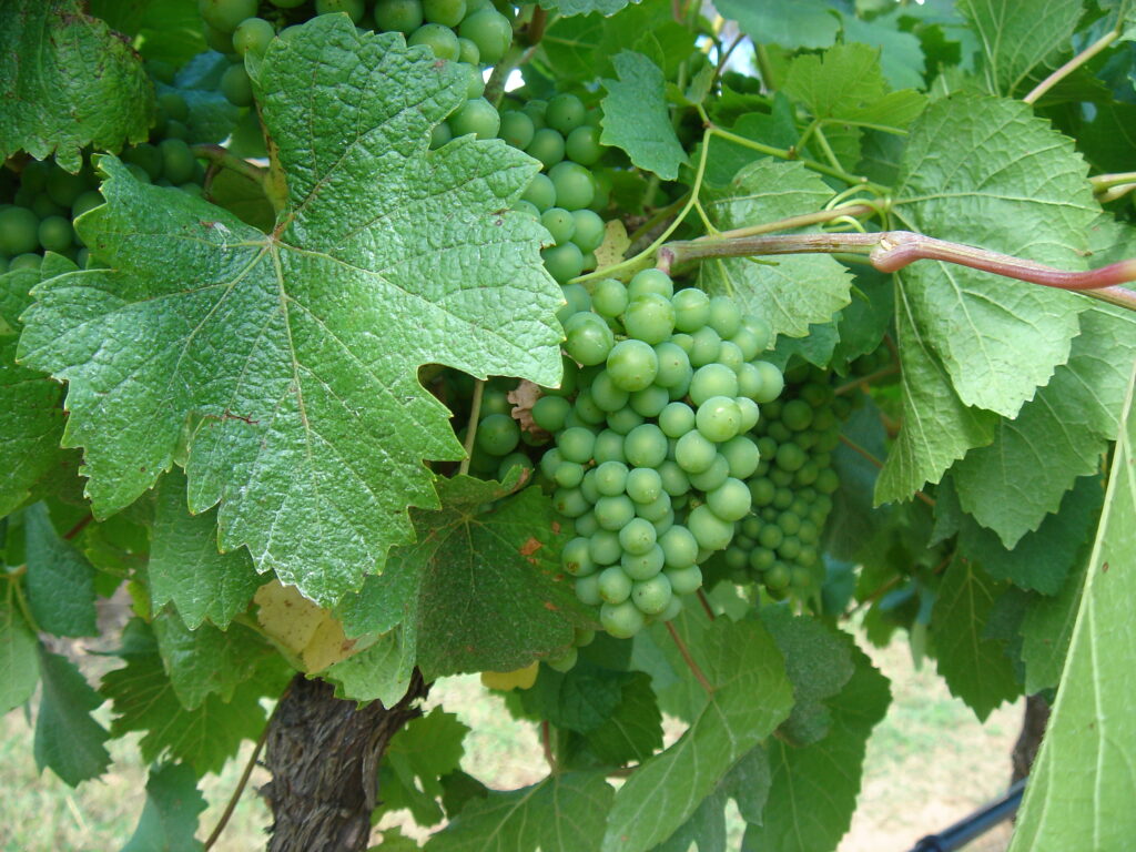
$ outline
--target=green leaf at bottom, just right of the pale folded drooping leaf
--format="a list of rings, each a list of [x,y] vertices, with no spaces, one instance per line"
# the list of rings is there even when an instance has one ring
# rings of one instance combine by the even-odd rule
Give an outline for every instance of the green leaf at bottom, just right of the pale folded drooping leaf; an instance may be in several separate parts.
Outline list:
[[[793,747],[770,738],[767,750],[772,784],[761,825],[751,820],[742,849],[746,852],[825,852],[852,821],[860,793],[860,768],[871,729],[891,701],[887,678],[844,638],[855,670],[826,703],[832,712],[828,735],[813,745]]]

